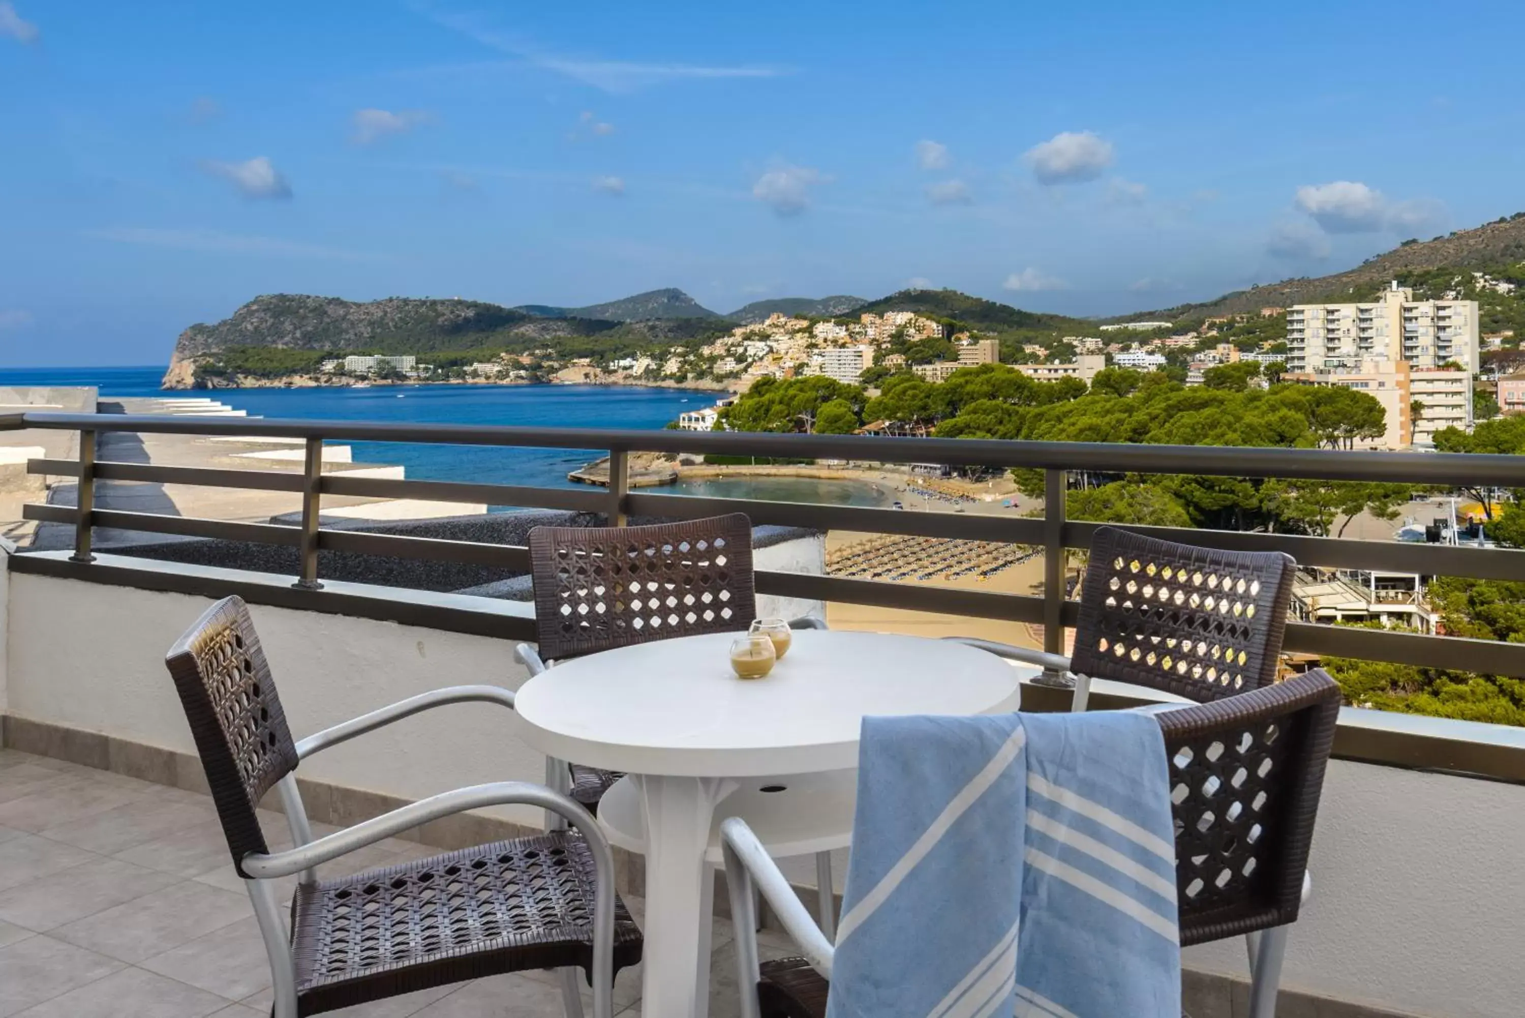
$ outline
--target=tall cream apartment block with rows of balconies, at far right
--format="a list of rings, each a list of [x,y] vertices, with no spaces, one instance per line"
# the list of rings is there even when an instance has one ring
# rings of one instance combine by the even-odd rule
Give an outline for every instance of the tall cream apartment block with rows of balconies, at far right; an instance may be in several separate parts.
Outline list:
[[[1362,360],[1415,369],[1478,369],[1478,302],[1415,301],[1397,282],[1372,304],[1299,304],[1287,311],[1287,369],[1354,369]]]

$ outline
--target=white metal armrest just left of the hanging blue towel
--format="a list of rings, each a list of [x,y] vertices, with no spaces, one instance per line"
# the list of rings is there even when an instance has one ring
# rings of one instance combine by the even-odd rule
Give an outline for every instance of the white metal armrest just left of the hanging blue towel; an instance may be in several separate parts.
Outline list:
[[[795,888],[788,885],[788,879],[779,871],[747,823],[740,817],[721,823],[720,846],[726,858],[726,887],[730,891],[737,975],[743,987],[743,1001],[746,1003],[747,991],[755,987],[758,981],[758,923],[752,902],[753,884],[762,891],[773,914],[784,923],[784,931],[799,946],[811,968],[831,978],[831,960],[836,949],[820,933],[810,910],[795,896]],[[747,1012],[743,1010],[743,1015]]]

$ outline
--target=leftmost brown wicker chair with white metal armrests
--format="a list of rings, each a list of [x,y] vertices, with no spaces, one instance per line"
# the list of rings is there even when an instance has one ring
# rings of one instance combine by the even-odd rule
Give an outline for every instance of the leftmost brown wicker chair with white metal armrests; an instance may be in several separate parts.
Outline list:
[[[293,742],[249,609],[214,604],[166,656],[212,788],[233,867],[270,955],[274,1018],[296,1018],[430,986],[560,969],[581,1016],[575,971],[608,1018],[615,972],[640,960],[640,931],[613,890],[613,855],[587,810],[538,784],[500,781],[435,795],[314,839],[297,763],[418,711],[459,702],[512,708],[508,690],[464,685],[401,701]],[[271,853],[255,813],[278,789],[296,847]],[[576,827],[322,881],[316,867],[430,820],[503,803],[557,810]],[[274,879],[299,873],[287,929]]]

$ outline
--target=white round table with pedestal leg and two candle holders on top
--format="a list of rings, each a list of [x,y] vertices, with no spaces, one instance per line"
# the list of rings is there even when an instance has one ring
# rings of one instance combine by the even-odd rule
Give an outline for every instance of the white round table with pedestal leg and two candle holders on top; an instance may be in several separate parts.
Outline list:
[[[1013,667],[964,644],[886,633],[799,630],[764,679],[730,672],[737,633],[683,636],[575,658],[515,696],[537,749],[607,771],[639,791],[647,833],[642,1010],[705,1013],[715,806],[744,778],[857,766],[869,714],[1017,710]]]

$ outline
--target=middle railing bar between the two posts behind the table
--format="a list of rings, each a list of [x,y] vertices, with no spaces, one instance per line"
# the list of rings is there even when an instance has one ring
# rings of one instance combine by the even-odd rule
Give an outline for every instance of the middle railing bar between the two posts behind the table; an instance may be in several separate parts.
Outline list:
[[[917,513],[913,510],[886,510],[863,505],[761,502],[755,499],[697,498],[647,491],[631,491],[627,501],[633,514],[660,516],[663,519],[703,519],[724,513],[746,513],[753,523],[805,527],[822,531],[851,530],[871,534],[1000,540],[1013,545],[1034,545],[1043,540],[1042,520],[1026,517]]]

